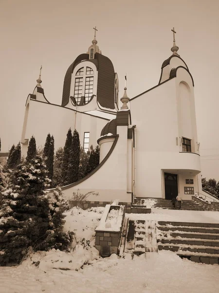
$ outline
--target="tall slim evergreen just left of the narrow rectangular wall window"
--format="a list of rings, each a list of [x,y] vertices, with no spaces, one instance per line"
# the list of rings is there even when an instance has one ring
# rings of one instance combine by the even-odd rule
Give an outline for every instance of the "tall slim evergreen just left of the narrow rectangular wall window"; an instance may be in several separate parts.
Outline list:
[[[80,139],[76,129],[74,129],[72,137],[72,145],[69,153],[68,172],[67,179],[68,183],[71,184],[78,180],[78,170],[80,162]]]

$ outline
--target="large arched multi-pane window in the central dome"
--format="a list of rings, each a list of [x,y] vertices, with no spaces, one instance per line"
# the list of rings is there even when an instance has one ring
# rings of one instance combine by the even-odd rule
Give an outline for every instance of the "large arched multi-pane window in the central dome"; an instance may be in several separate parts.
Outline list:
[[[77,105],[80,104],[81,97],[84,97],[84,105],[91,100],[93,94],[93,69],[85,66],[78,69],[75,74],[74,98]]]

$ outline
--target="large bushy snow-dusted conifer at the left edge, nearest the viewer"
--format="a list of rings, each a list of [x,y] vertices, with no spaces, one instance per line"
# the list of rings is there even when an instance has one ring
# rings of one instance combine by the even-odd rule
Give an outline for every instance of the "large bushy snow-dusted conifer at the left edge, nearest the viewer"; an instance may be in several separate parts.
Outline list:
[[[47,192],[50,180],[42,158],[18,165],[2,192],[0,265],[19,263],[28,247],[40,250],[52,234]]]

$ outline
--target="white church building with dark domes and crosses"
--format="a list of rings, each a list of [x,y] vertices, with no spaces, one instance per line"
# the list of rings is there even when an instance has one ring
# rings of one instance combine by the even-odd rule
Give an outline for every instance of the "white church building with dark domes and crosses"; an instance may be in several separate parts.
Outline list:
[[[133,196],[191,199],[201,188],[194,81],[178,54],[173,28],[172,54],[161,66],[159,83],[119,103],[119,81],[95,35],[66,71],[60,105],[47,99],[41,78],[26,101],[21,136],[22,154],[35,136],[44,145],[50,132],[55,149],[64,146],[68,129],[76,129],[87,151],[100,146],[100,164],[78,182],[62,187],[99,193],[89,200],[131,202]],[[49,102],[50,101],[50,102]],[[119,106],[121,104],[122,106]]]

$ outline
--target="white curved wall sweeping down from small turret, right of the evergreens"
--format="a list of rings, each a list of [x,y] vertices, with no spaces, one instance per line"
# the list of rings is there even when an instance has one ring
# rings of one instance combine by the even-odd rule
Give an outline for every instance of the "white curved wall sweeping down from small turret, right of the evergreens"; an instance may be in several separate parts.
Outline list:
[[[108,160],[85,181],[63,189],[66,198],[80,189],[82,193],[99,192],[98,197],[90,196],[90,201],[131,202],[131,194],[127,193],[127,129],[127,126],[117,126],[118,141]]]

